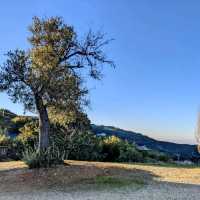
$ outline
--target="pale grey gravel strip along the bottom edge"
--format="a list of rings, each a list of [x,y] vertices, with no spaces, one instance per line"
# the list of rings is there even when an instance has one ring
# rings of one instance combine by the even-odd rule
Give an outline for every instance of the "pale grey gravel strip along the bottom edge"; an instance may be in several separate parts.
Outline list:
[[[132,191],[0,193],[1,200],[199,200],[200,186],[159,183]]]

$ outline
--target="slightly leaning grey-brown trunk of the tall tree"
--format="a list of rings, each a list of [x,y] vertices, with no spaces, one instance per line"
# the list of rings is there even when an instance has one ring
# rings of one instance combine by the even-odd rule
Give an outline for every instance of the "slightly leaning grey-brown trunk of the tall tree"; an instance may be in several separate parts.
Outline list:
[[[47,108],[43,103],[42,98],[36,97],[36,106],[39,114],[39,146],[38,150],[47,149],[49,146],[49,117]]]

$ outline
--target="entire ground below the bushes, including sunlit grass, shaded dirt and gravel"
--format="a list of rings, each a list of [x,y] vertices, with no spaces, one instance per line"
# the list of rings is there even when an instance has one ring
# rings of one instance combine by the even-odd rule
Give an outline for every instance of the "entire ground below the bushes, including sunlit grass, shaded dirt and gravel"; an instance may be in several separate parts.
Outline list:
[[[200,199],[200,168],[66,163],[49,170],[29,170],[22,162],[0,163],[0,200]],[[97,177],[114,179],[98,182]]]

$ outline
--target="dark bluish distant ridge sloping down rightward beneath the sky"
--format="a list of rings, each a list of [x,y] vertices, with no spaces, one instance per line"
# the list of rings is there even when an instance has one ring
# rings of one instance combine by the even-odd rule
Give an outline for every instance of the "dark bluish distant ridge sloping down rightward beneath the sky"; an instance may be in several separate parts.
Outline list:
[[[133,142],[138,146],[145,146],[149,149],[164,152],[173,157],[177,157],[183,160],[191,160],[200,157],[195,145],[176,144],[172,142],[159,141],[145,136],[141,133],[126,131],[112,126],[97,126],[93,124],[92,129],[96,135],[115,135],[121,139]]]

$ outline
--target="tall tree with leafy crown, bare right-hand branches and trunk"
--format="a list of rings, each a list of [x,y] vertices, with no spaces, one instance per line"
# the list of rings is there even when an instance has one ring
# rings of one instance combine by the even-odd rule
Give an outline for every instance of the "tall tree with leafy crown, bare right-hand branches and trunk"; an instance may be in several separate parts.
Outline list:
[[[101,33],[91,31],[82,40],[72,26],[60,17],[33,18],[29,27],[31,48],[7,53],[0,67],[0,91],[7,91],[13,102],[39,115],[39,149],[49,145],[49,113],[67,111],[86,103],[82,71],[88,69],[94,79],[101,78],[104,64],[113,66],[103,47],[109,43]]]

